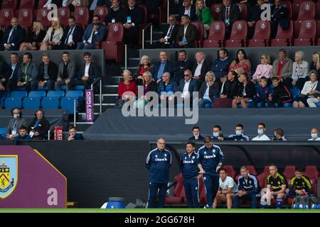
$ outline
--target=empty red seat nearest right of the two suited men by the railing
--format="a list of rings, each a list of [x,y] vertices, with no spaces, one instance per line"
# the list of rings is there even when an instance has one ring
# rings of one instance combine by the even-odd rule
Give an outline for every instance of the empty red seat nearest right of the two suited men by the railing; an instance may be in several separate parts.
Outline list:
[[[225,40],[225,23],[213,21],[207,40],[203,41],[203,48],[223,48]]]

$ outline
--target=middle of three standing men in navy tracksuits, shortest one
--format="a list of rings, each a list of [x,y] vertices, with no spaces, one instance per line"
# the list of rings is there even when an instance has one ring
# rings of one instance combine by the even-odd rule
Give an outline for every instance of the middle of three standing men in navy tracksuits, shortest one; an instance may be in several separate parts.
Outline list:
[[[181,155],[180,167],[183,176],[184,192],[189,208],[199,208],[199,174],[197,155],[194,153],[195,145],[186,144],[186,153]]]

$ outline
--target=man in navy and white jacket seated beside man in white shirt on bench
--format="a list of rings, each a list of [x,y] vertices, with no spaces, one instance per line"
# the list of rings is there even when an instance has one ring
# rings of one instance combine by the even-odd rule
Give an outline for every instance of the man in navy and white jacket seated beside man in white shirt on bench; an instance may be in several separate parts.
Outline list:
[[[244,165],[240,167],[240,177],[238,179],[238,194],[233,197],[233,209],[237,209],[240,199],[251,200],[252,209],[257,208],[257,193],[260,186],[255,175],[252,175]]]

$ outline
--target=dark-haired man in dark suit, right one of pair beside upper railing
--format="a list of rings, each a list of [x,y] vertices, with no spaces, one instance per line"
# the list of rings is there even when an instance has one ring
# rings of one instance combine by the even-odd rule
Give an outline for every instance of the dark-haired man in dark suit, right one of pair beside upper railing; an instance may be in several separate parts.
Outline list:
[[[188,15],[183,15],[181,17],[181,26],[178,28],[176,35],[176,43],[172,46],[174,48],[194,48],[197,36],[196,26],[190,23]]]

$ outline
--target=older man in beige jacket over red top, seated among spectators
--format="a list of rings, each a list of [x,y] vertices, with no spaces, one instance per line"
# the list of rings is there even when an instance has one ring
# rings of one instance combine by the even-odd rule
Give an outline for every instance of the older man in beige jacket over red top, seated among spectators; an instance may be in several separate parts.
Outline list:
[[[279,59],[274,60],[271,70],[271,78],[279,77],[281,82],[291,77],[292,75],[292,60],[287,57],[287,51],[279,50]]]

